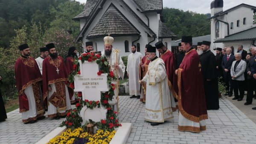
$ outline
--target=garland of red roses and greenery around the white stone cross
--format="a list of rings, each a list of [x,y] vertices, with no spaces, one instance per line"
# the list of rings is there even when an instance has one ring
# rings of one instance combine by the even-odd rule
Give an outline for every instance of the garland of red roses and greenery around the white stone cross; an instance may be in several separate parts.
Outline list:
[[[110,71],[110,66],[108,65],[107,58],[105,56],[103,57],[103,56],[100,56],[99,54],[93,54],[93,53],[84,53],[84,54],[82,54],[79,57],[79,59],[75,59],[75,62],[74,62],[74,65],[73,65],[74,71],[72,73],[70,73],[70,76],[69,76],[70,83],[74,82],[74,80],[73,80],[74,76],[76,76],[77,74],[81,74],[80,73],[79,60],[81,60],[82,63],[84,63],[84,61],[88,61],[88,62],[96,61],[96,63],[99,65],[99,72],[97,72],[97,75],[100,76],[102,73],[108,73],[108,76],[107,76],[108,81],[107,82],[109,84],[109,90],[108,90],[108,92],[101,93],[100,102],[99,101],[97,101],[97,102],[88,101],[87,99],[85,99],[83,101],[83,100],[79,99],[80,101],[79,101],[79,103],[76,104],[75,109],[78,112],[80,112],[80,110],[82,109],[83,106],[87,106],[88,108],[93,109],[96,106],[100,107],[100,104],[102,104],[108,110],[107,119],[102,119],[99,122],[94,122],[93,121],[93,123],[99,129],[108,130],[108,131],[114,130],[114,127],[122,126],[119,123],[118,119],[116,119],[116,112],[113,111],[111,105],[108,103],[108,101],[112,100],[113,96],[114,96],[115,85],[112,84],[111,81],[116,80],[116,77],[114,76],[113,71]],[[78,92],[78,97],[80,97],[80,98],[82,97],[81,92]],[[73,119],[77,119],[77,118],[75,117]]]

